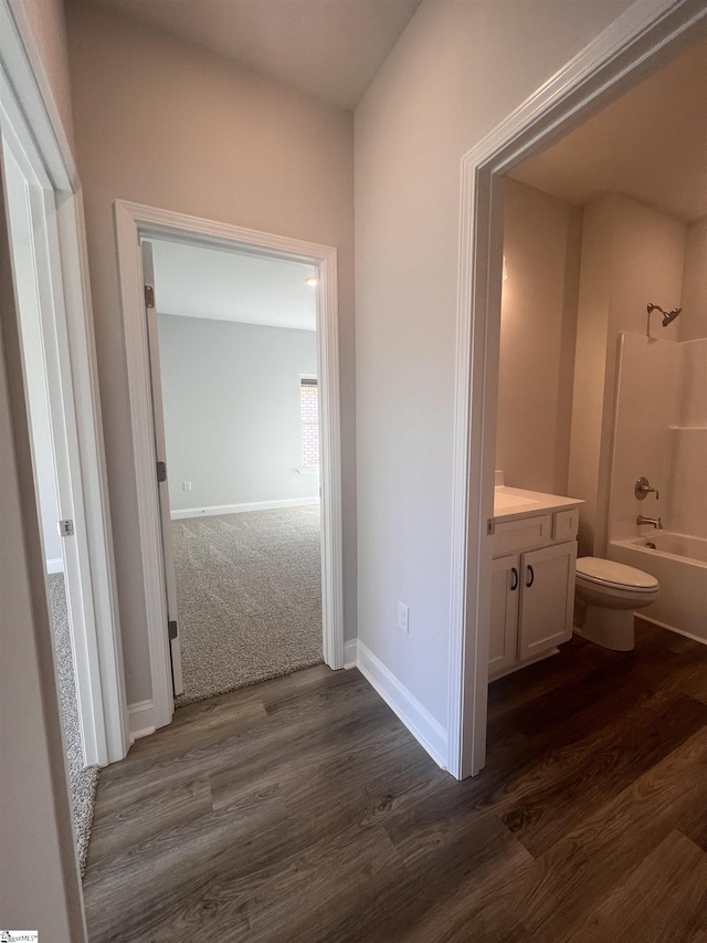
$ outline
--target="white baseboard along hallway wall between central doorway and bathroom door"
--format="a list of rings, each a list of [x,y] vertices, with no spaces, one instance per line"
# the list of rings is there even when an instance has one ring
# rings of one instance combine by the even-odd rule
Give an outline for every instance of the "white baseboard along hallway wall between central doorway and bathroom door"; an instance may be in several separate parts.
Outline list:
[[[351,646],[352,642],[347,642]],[[437,766],[447,768],[447,736],[442,724],[362,641],[356,643],[357,667],[388,706],[400,717]],[[345,652],[346,652],[345,646]],[[348,653],[348,652],[347,652]],[[345,660],[347,660],[345,654]]]

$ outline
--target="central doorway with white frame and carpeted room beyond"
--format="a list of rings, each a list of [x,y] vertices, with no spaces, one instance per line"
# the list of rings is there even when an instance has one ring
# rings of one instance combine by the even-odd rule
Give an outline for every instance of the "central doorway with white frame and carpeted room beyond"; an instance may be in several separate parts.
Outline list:
[[[151,612],[135,736],[175,703],[344,666],[336,251],[115,213]]]

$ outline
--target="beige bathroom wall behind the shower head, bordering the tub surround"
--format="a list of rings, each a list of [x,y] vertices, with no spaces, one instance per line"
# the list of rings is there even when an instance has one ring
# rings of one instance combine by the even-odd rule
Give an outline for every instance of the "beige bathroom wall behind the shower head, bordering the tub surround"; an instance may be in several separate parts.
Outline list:
[[[645,335],[648,302],[679,305],[686,226],[623,195],[584,210],[568,489],[580,510],[580,554],[603,556],[621,332]],[[652,336],[677,340],[679,318]],[[636,478],[647,474],[636,469]]]

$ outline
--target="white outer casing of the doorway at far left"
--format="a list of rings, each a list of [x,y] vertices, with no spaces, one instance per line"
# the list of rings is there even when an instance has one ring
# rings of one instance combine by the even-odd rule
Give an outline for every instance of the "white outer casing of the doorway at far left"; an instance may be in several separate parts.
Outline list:
[[[108,509],[98,373],[81,182],[19,0],[0,0],[0,123],[44,192],[52,317],[60,339],[65,404],[72,404],[74,492],[83,630],[73,632],[84,755],[106,766],[129,748],[123,649]],[[73,539],[73,538],[67,538]]]

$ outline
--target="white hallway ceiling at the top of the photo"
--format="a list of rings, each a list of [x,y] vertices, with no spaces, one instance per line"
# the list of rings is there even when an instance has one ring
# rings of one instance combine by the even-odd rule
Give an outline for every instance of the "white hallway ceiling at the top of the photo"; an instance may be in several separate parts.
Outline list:
[[[98,0],[354,108],[421,0]]]

